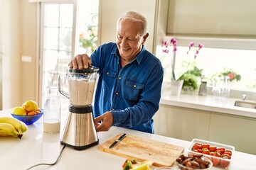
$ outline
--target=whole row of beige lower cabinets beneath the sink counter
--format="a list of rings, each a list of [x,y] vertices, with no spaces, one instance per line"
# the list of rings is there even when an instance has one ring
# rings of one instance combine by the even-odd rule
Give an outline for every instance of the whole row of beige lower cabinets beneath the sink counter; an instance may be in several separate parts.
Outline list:
[[[256,154],[255,118],[161,104],[154,115],[154,128],[157,135],[209,140]]]

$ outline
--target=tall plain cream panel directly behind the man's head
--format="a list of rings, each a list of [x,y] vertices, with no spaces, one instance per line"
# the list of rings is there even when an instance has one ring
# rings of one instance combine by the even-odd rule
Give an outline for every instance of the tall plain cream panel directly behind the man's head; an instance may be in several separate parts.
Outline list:
[[[153,52],[156,3],[155,0],[100,0],[99,44],[115,42],[119,16],[128,11],[137,11],[148,21],[149,37],[145,47]]]

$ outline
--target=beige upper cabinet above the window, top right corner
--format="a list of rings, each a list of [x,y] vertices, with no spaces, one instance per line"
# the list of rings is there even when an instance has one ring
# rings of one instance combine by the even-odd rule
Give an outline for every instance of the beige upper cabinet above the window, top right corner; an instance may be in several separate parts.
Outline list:
[[[171,35],[256,36],[254,0],[169,0],[168,18]]]

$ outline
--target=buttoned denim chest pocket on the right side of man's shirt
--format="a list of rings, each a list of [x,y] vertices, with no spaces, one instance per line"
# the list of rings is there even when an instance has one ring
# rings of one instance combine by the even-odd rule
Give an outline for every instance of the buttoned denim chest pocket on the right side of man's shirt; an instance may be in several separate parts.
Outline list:
[[[124,86],[124,98],[129,101],[139,101],[139,96],[144,89],[144,84],[134,80],[127,80]]]

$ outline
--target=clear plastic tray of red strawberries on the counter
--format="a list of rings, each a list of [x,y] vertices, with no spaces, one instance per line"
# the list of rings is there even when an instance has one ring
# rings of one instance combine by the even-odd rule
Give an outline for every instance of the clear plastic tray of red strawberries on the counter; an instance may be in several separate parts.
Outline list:
[[[201,153],[220,169],[228,169],[235,147],[207,140],[193,139],[188,152]]]

